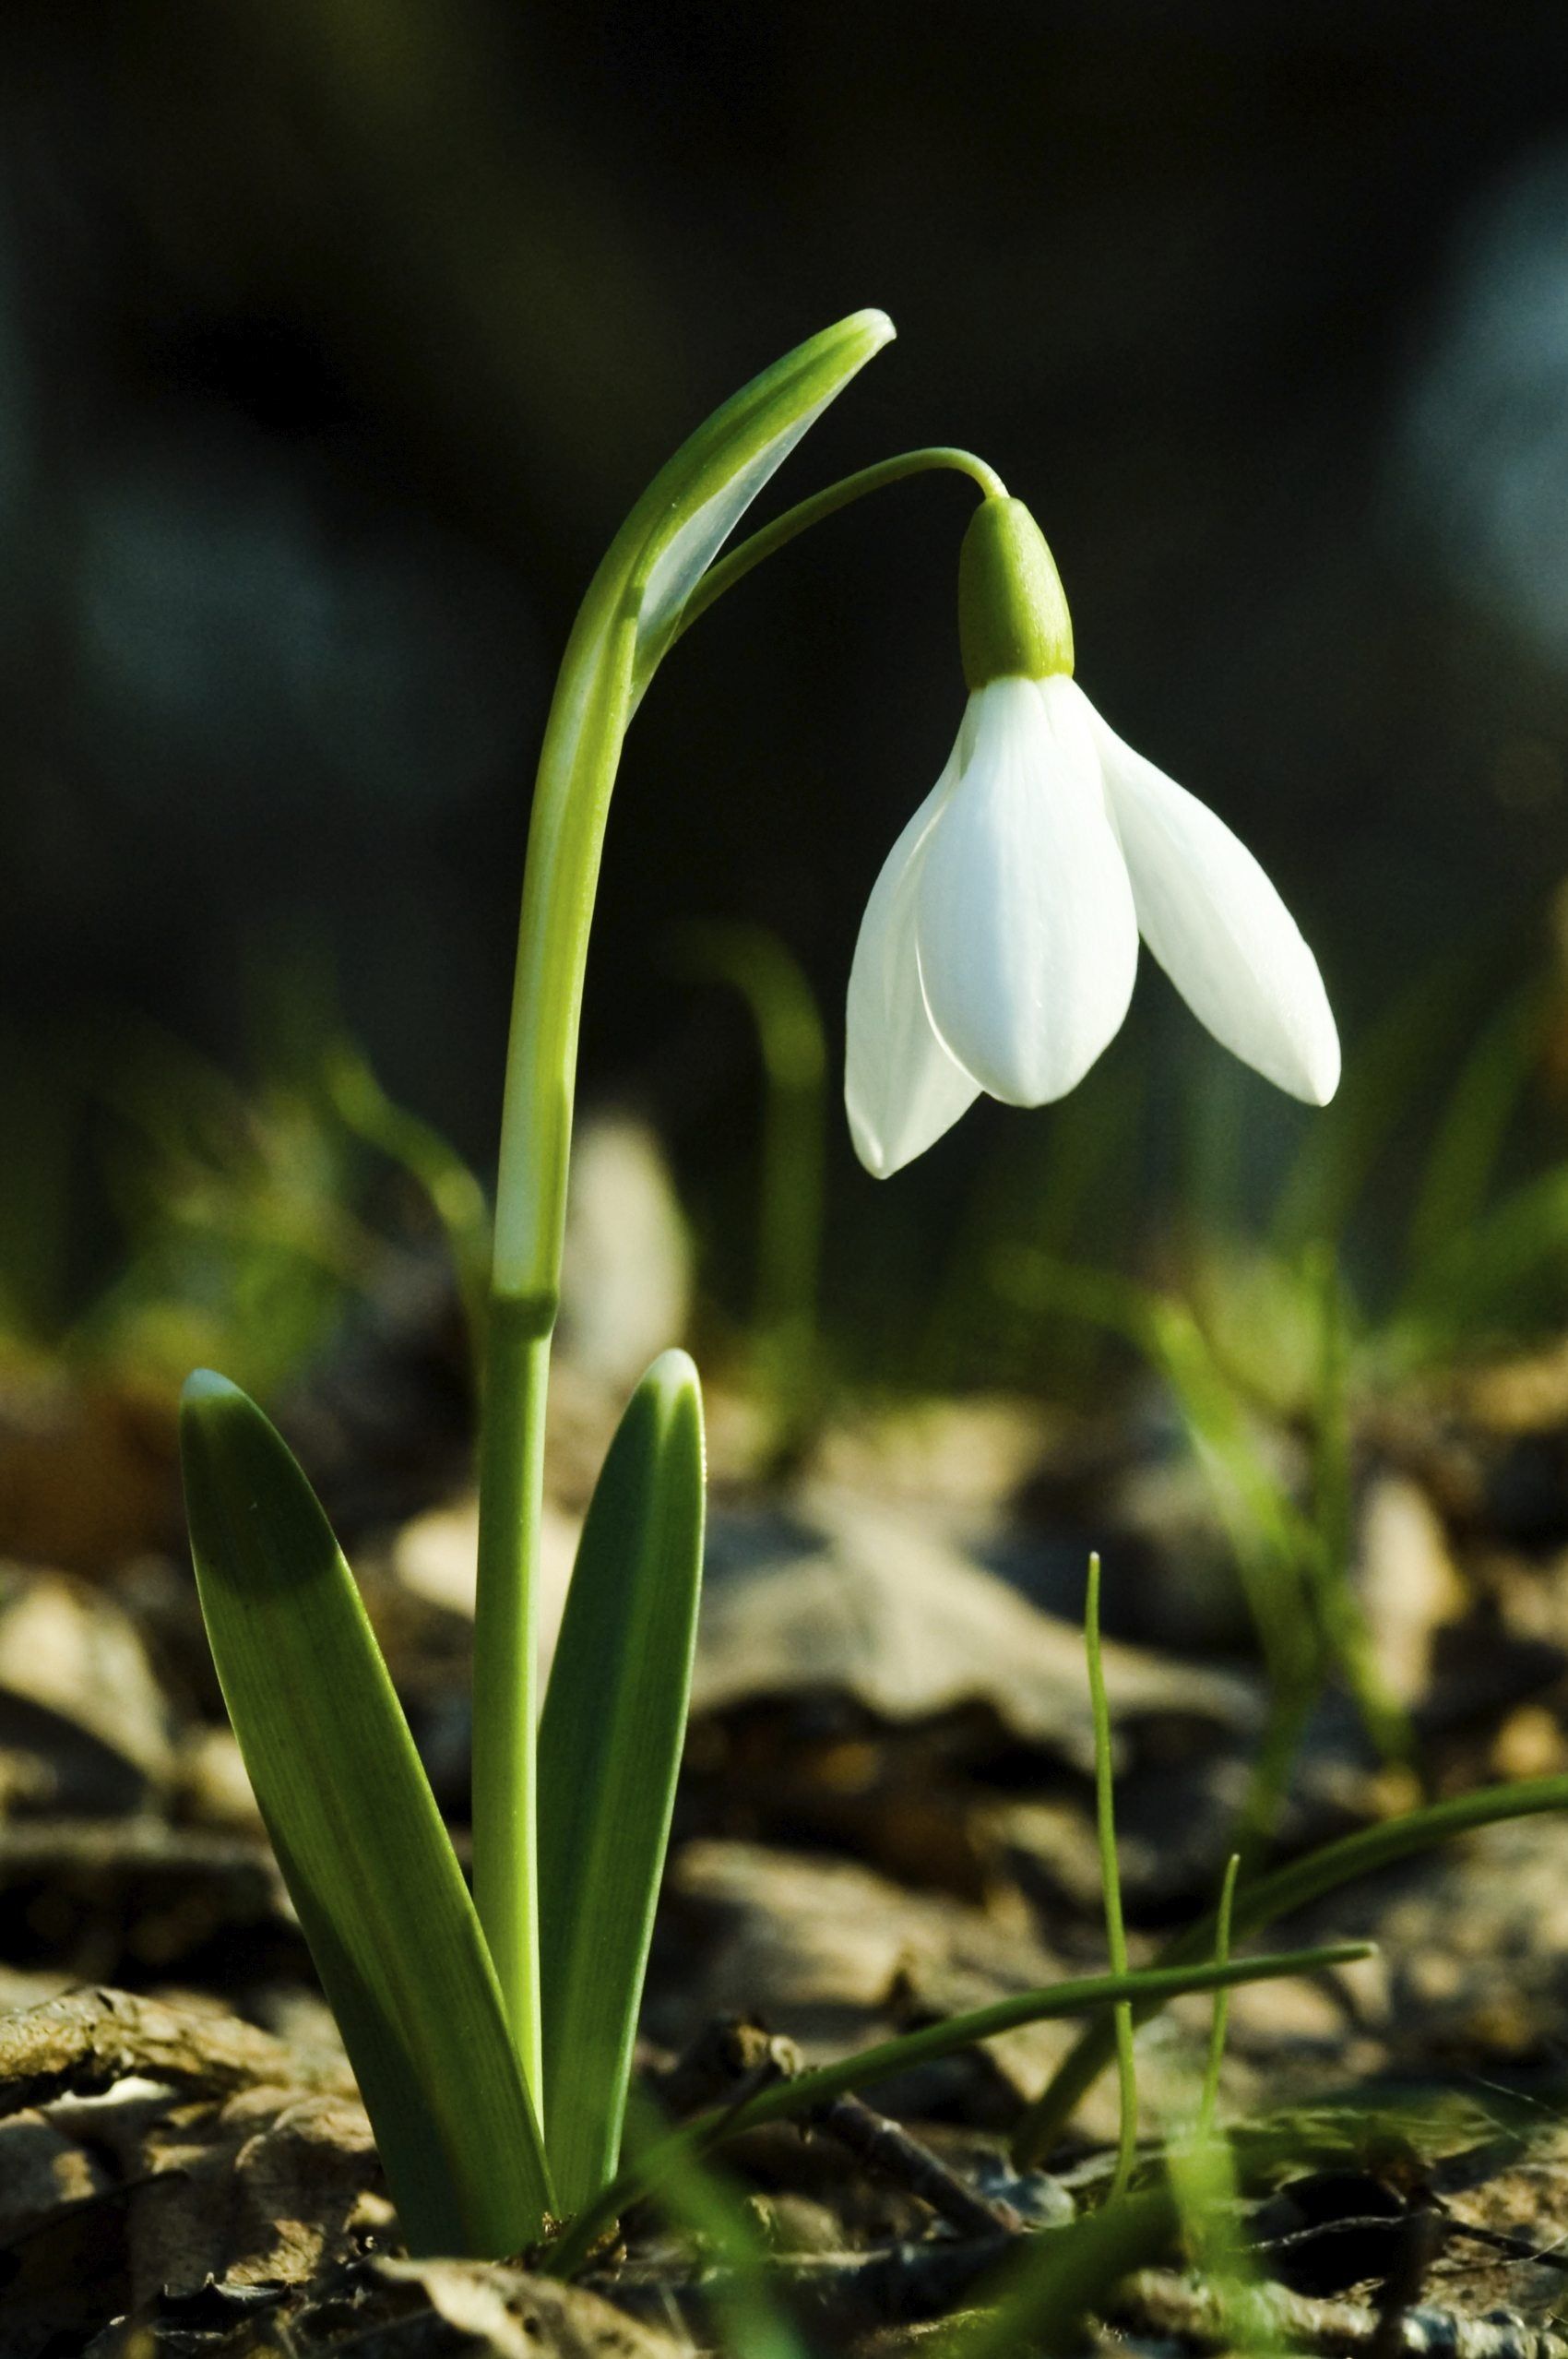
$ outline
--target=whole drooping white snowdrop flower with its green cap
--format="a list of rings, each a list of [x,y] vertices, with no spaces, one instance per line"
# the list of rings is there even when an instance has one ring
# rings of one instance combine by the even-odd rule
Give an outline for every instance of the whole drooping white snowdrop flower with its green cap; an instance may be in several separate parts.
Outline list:
[[[1073,679],[1040,526],[983,500],[960,559],[969,705],[872,889],[849,974],[861,1163],[910,1163],[986,1090],[1063,1097],[1115,1036],[1139,934],[1193,1014],[1313,1106],[1339,1083],[1318,965],[1252,854]]]

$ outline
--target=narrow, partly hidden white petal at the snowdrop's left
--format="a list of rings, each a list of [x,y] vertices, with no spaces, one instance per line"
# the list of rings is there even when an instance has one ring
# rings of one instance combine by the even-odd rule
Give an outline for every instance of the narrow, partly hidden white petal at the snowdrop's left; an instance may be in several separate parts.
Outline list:
[[[931,1031],[915,958],[922,847],[955,776],[957,755],[882,863],[849,970],[844,1106],[856,1154],[877,1180],[924,1154],[981,1095]]]

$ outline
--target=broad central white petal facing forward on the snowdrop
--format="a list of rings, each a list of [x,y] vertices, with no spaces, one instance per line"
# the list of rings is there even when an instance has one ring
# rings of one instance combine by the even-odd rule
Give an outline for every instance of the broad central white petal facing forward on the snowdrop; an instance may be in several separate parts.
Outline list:
[[[924,845],[920,977],[938,1038],[1012,1106],[1063,1097],[1115,1036],[1132,887],[1066,679],[969,698],[967,764]]]

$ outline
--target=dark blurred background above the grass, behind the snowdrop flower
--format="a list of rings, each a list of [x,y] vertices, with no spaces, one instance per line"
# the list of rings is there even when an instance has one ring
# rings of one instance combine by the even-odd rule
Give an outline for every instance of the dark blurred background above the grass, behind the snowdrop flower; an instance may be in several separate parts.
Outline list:
[[[257,977],[325,960],[394,1097],[488,1170],[575,599],[681,434],[861,304],[898,342],[757,514],[924,441],[1000,467],[1089,696],[1259,852],[1351,1047],[1443,953],[1544,953],[1561,7],[9,0],[9,1161],[59,1146],[118,1012],[233,1064]],[[776,929],[837,1057],[861,906],[960,717],[964,514],[929,479],[839,517],[637,719],[585,1073],[653,1111],[717,1224],[752,1045],[670,929]],[[1219,1066],[1148,967],[1089,1090],[1118,1059]],[[1299,1135],[1261,1083],[1212,1087],[1247,1154]],[[835,1132],[851,1300],[920,1281],[1019,1128],[981,1106],[887,1191]],[[92,1260],[90,1156],[59,1156]]]

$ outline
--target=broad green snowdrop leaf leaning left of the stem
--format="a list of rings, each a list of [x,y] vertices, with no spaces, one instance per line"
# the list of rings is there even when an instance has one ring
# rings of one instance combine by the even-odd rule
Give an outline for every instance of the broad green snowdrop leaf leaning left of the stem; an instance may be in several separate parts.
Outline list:
[[[413,2253],[531,2243],[549,2175],[462,1871],[354,1576],[262,1411],[184,1389],[196,1585],[224,1703]]]

